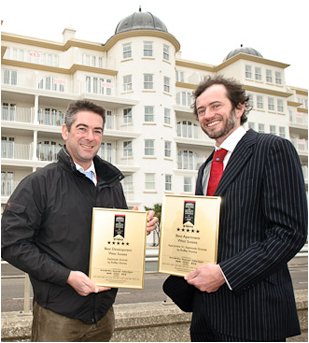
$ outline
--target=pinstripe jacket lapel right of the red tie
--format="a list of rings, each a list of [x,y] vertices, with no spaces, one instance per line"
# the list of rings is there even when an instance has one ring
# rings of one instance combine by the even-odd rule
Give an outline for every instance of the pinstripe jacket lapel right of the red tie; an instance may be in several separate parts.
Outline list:
[[[221,180],[219,182],[218,188],[215,195],[222,195],[229,187],[231,182],[238,176],[240,171],[244,168],[248,159],[252,155],[253,145],[257,139],[257,133],[253,130],[249,130],[245,136],[236,145],[231,158],[227,164],[224,173],[222,174]]]

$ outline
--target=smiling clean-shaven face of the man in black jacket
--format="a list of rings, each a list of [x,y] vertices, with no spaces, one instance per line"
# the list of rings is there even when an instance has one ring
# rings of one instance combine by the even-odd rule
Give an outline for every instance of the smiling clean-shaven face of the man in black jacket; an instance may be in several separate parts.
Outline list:
[[[80,111],[68,131],[62,126],[62,137],[73,161],[88,169],[91,161],[98,152],[103,136],[103,119],[94,112]]]

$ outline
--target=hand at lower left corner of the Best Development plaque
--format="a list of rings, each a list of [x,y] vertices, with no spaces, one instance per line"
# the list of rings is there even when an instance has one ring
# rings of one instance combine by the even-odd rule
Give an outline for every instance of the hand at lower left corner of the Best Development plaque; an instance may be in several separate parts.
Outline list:
[[[70,272],[67,284],[73,287],[75,291],[83,297],[89,295],[90,293],[99,293],[110,290],[108,287],[97,286],[86,274],[78,271]]]

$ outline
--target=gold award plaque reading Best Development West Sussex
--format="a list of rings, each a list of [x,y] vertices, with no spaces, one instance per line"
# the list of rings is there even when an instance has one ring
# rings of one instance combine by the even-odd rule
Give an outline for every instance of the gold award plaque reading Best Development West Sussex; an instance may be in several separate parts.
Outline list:
[[[147,212],[94,208],[89,277],[98,286],[144,287]]]

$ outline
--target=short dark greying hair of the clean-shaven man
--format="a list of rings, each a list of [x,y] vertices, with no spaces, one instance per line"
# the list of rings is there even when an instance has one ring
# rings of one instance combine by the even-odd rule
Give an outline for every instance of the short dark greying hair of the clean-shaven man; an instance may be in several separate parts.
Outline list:
[[[103,128],[104,128],[105,109],[87,100],[77,100],[69,104],[65,113],[64,123],[67,126],[68,131],[71,130],[71,126],[76,119],[76,115],[80,111],[94,112],[100,115],[103,119]]]

